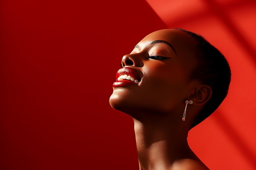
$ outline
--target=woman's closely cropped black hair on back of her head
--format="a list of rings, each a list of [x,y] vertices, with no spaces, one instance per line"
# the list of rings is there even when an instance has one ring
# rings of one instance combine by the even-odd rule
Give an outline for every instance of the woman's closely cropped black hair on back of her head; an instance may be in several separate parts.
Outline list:
[[[211,98],[195,118],[191,128],[209,117],[222,103],[227,96],[229,83],[231,80],[231,70],[224,55],[204,37],[181,28],[176,28],[193,37],[197,42],[196,52],[198,66],[191,75],[191,79],[196,79],[209,85],[212,89]]]

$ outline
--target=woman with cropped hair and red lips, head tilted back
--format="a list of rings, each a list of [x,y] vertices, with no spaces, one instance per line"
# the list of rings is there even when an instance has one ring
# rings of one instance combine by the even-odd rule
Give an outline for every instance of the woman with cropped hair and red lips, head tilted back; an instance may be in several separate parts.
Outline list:
[[[121,67],[110,105],[134,120],[140,170],[207,170],[187,135],[227,96],[225,57],[200,35],[164,29],[142,39]]]

